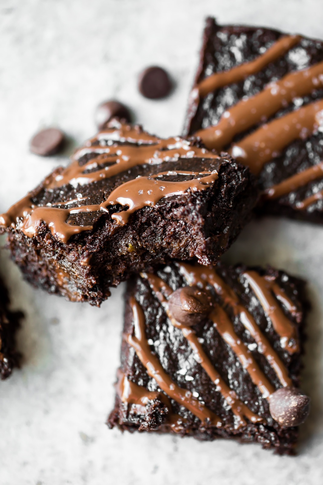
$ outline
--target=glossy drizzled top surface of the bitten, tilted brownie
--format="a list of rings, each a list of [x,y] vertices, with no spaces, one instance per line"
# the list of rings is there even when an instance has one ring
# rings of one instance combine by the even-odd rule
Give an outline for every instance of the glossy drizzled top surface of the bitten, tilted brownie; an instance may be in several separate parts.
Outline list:
[[[222,161],[196,140],[163,140],[114,120],[75,152],[67,168],[2,214],[0,226],[16,226],[32,237],[43,221],[66,243],[92,230],[105,213],[115,232],[138,209],[212,186]]]

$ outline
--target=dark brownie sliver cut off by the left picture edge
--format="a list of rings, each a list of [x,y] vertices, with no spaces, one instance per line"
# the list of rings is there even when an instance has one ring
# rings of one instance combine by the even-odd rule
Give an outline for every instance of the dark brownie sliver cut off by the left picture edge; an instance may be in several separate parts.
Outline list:
[[[19,366],[20,354],[15,350],[15,332],[22,318],[20,311],[9,309],[10,300],[0,277],[0,379],[6,379]]]

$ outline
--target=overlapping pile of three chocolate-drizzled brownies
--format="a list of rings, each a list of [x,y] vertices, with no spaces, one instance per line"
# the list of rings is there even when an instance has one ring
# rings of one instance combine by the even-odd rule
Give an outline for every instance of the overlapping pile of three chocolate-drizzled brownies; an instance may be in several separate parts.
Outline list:
[[[109,427],[294,452],[305,283],[218,260],[254,209],[322,222],[322,99],[320,41],[209,18],[183,137],[115,119],[0,216],[34,286],[127,280]]]

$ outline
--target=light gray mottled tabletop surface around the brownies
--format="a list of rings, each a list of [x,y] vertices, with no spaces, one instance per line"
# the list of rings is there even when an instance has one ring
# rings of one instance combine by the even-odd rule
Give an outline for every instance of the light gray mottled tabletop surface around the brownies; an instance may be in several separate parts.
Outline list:
[[[106,98],[128,104],[152,132],[180,133],[205,16],[323,37],[322,14],[322,0],[0,0],[0,211],[65,163],[31,155],[31,135],[61,127],[69,155],[94,133],[94,107]],[[167,100],[138,94],[138,72],[152,64],[177,83]],[[253,222],[226,256],[310,282],[303,386],[312,412],[298,456],[279,457],[231,441],[109,431],[123,285],[101,309],[69,303],[28,286],[3,251],[14,306],[27,317],[23,367],[0,382],[0,484],[321,484],[322,257],[322,227],[283,219]]]

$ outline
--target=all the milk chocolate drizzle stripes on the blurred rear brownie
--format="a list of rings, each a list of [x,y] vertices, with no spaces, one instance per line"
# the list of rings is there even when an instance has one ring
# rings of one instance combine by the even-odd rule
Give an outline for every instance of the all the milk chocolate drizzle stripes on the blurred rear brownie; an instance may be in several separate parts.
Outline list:
[[[301,36],[283,36],[255,60],[232,67],[228,71],[216,72],[206,77],[193,89],[191,110],[195,112],[198,97],[205,97],[217,89],[246,79],[265,69],[266,65],[285,55],[302,40]],[[297,139],[305,140],[321,129],[323,123],[323,100],[307,104],[291,113],[283,114],[267,123],[267,120],[286,108],[295,99],[312,95],[323,88],[323,62],[286,74],[279,80],[267,84],[254,96],[243,98],[225,111],[218,123],[196,132],[208,148],[228,150],[231,155],[249,166],[259,175],[264,165],[278,157],[282,150]],[[299,105],[298,105],[299,106]],[[259,127],[259,124],[261,126]],[[241,135],[255,128],[238,142]],[[321,164],[318,164],[318,166]],[[304,175],[302,175],[304,174]],[[320,169],[313,167],[275,185],[264,193],[264,200],[279,198],[309,181],[322,178]],[[317,193],[302,202],[295,202],[294,209],[304,210],[322,198]]]

